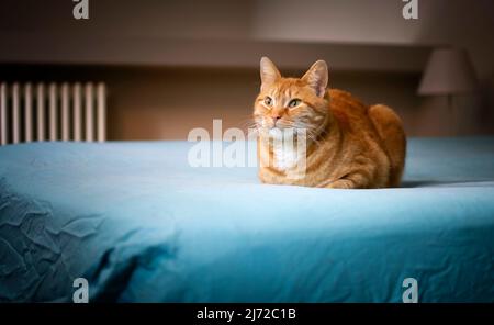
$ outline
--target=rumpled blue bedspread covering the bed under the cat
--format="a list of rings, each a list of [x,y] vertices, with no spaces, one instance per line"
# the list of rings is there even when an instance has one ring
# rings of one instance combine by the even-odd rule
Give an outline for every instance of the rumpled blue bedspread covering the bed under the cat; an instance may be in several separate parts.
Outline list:
[[[0,147],[0,301],[494,302],[494,138],[411,139],[404,188],[261,184],[187,142]]]

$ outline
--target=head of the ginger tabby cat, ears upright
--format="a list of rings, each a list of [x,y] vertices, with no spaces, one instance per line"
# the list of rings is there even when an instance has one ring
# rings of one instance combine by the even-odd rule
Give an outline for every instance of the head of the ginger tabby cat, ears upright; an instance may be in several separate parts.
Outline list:
[[[302,78],[283,78],[267,57],[260,60],[261,89],[254,104],[254,120],[260,131],[294,128],[308,133],[325,123],[328,112],[328,72],[318,60]]]

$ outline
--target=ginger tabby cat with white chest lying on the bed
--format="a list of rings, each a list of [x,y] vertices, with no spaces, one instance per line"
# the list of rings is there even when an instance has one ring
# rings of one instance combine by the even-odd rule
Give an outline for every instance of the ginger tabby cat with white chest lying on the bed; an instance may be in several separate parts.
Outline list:
[[[326,89],[327,65],[316,61],[302,78],[283,78],[267,57],[260,61],[261,90],[254,120],[259,131],[259,178],[265,183],[333,189],[398,187],[406,136],[386,105],[368,107],[350,93]],[[273,131],[293,130],[305,142],[304,173],[291,178],[300,158],[274,146]],[[301,130],[306,137],[297,138]]]

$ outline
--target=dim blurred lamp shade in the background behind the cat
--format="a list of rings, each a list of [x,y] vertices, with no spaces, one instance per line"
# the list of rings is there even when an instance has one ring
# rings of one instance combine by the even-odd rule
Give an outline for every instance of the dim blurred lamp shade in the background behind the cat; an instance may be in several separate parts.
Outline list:
[[[427,63],[418,94],[454,94],[470,92],[478,85],[467,51],[437,48]]]

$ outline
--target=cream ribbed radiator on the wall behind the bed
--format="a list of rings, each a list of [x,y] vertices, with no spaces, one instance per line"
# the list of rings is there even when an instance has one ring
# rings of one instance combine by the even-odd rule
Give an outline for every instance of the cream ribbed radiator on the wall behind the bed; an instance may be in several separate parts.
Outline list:
[[[0,83],[0,145],[105,138],[104,83]]]

